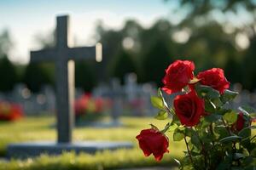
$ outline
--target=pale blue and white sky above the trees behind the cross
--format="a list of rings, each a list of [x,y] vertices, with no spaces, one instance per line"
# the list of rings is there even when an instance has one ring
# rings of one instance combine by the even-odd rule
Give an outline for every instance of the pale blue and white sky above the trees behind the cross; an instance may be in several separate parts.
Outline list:
[[[8,29],[15,42],[10,59],[27,63],[29,51],[39,48],[35,35],[54,30],[58,14],[70,14],[71,36],[79,45],[92,45],[97,20],[114,29],[121,28],[127,19],[136,19],[147,27],[160,17],[169,18],[170,8],[162,0],[1,0],[0,33]]]

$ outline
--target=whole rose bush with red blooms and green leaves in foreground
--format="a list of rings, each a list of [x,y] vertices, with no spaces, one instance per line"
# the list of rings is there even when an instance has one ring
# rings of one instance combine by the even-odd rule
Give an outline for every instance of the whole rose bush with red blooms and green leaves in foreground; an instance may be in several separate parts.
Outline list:
[[[155,118],[172,117],[171,122],[162,130],[154,125],[144,129],[137,135],[140,148],[145,156],[153,153],[160,161],[168,152],[165,133],[173,131],[172,139],[184,140],[187,149],[182,160],[175,159],[180,169],[255,169],[256,135],[252,131],[256,111],[248,106],[230,107],[238,93],[228,89],[230,82],[222,69],[202,71],[197,76],[194,70],[189,60],[168,66],[161,89],[166,95],[179,94],[169,104],[159,89],[151,101],[160,110]]]

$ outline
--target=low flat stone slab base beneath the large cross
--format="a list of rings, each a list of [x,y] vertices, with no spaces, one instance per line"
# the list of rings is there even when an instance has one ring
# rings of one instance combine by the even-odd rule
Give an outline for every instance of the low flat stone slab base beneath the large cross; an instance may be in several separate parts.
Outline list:
[[[9,144],[7,154],[9,158],[27,158],[40,156],[41,154],[60,155],[63,151],[74,151],[94,154],[96,151],[131,149],[133,145],[130,142],[100,142],[86,141],[74,142],[72,144],[59,144],[55,142],[30,142]]]

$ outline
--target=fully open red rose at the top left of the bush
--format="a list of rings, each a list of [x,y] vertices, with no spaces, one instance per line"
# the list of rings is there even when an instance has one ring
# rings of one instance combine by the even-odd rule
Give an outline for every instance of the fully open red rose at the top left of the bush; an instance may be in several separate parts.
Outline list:
[[[195,65],[192,61],[176,60],[166,69],[166,76],[162,80],[165,86],[162,89],[167,94],[180,92],[193,79],[194,70]]]

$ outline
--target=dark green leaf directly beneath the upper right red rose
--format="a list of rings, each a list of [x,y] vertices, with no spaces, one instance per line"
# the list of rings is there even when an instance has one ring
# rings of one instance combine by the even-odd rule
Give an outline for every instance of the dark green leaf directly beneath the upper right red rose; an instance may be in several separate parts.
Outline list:
[[[197,85],[195,86],[195,90],[201,98],[216,99],[220,97],[218,91],[210,86]]]

